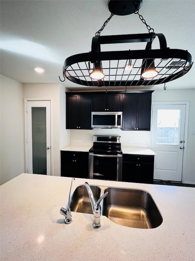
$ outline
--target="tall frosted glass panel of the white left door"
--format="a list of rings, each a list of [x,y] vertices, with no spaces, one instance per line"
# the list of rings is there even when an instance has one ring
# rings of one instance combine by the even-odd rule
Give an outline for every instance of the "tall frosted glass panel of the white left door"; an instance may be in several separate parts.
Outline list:
[[[32,107],[33,173],[47,175],[46,107]]]

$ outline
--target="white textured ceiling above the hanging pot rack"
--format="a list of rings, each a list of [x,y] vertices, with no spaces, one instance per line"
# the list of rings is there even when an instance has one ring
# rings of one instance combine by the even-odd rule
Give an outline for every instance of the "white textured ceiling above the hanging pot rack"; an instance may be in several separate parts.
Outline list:
[[[62,67],[67,57],[91,50],[92,37],[111,14],[108,2],[1,0],[1,74],[21,83],[61,83],[71,91],[89,90],[89,87],[69,80],[61,82],[59,76],[63,79]],[[143,0],[139,13],[155,33],[165,35],[168,47],[188,50],[195,61],[194,0]],[[136,33],[148,33],[148,30],[138,15],[131,14],[113,16],[101,35]],[[159,48],[158,41],[155,41],[153,49]],[[142,48],[140,44],[138,49],[144,48],[145,45]],[[101,47],[102,51],[129,49],[137,49],[137,45],[109,44]],[[43,67],[45,72],[37,74],[32,69],[34,66]],[[186,75],[166,86],[167,89],[195,88],[195,64]],[[163,87],[164,84],[160,84],[147,89]]]

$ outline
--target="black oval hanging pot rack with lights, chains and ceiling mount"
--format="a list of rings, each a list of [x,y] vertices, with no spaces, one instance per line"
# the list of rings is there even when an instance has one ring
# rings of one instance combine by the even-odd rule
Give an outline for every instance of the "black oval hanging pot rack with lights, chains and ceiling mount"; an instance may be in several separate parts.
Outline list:
[[[193,62],[187,50],[170,49],[165,36],[155,33],[139,14],[142,0],[111,0],[110,17],[92,38],[91,51],[66,58],[64,79],[84,86],[147,86],[165,84],[178,79],[191,69]],[[148,33],[100,36],[113,16],[136,14],[146,25]],[[160,48],[151,48],[154,39]],[[145,42],[145,50],[101,52],[101,44]],[[124,64],[126,66],[124,66]],[[132,66],[133,65],[133,66]],[[91,71],[90,67],[93,68]],[[61,79],[60,79],[61,80]]]

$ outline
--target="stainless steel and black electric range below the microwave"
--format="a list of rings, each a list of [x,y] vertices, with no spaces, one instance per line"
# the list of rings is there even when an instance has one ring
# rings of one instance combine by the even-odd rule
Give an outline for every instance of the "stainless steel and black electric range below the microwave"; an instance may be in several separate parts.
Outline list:
[[[121,136],[94,135],[89,150],[89,178],[121,181]]]

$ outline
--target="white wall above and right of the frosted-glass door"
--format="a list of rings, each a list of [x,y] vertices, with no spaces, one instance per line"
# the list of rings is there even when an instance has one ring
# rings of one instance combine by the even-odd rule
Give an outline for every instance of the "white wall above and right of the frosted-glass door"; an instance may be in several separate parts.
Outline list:
[[[53,148],[53,166],[52,173],[54,176],[60,176],[60,149],[69,145],[69,136],[66,136],[65,125],[63,121],[66,103],[60,105],[60,101],[64,102],[65,88],[57,83],[53,84],[24,84],[23,95],[24,98],[51,98],[51,119],[52,119],[52,131],[53,131],[53,144],[51,144],[51,150]],[[62,95],[62,96],[60,96]],[[62,110],[62,112],[60,112]],[[64,132],[64,137],[62,133]],[[60,134],[61,133],[61,134]],[[69,131],[67,131],[69,133]],[[62,147],[61,147],[62,146]]]

